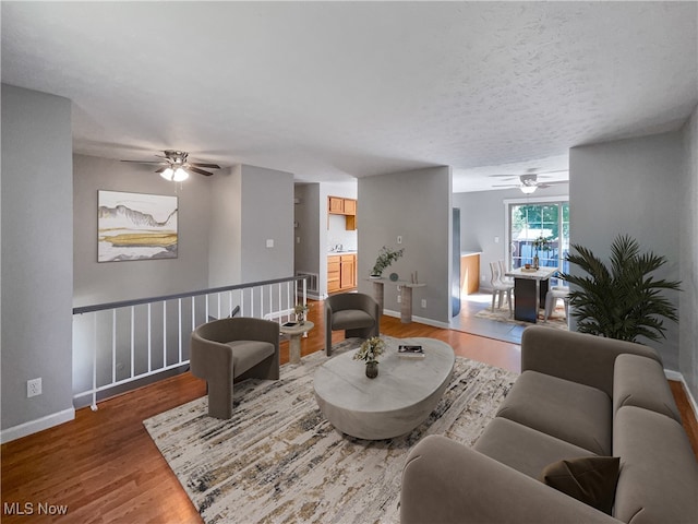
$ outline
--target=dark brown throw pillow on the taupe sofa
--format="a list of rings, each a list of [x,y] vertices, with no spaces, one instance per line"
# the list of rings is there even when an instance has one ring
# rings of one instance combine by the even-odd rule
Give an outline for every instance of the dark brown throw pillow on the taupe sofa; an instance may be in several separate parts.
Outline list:
[[[545,466],[540,480],[563,493],[611,514],[619,467],[621,458],[617,456],[570,458]]]

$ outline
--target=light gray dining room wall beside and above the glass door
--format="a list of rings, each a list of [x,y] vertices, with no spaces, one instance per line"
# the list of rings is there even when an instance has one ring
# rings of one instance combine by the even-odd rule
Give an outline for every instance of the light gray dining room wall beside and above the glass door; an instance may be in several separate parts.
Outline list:
[[[567,196],[568,184],[561,183],[539,189],[529,196],[530,202],[540,198]],[[455,193],[454,207],[460,207],[461,251],[482,251],[480,254],[480,287],[491,289],[490,262],[506,260],[506,207],[505,200],[526,201],[518,189]],[[495,237],[500,241],[495,242]]]

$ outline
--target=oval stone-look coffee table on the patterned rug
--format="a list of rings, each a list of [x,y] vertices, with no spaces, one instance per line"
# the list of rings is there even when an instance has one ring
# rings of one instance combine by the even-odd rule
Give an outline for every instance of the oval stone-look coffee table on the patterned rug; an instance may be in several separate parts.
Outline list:
[[[425,357],[397,355],[399,344],[421,345]],[[453,348],[435,338],[396,338],[381,356],[378,377],[365,376],[365,362],[353,360],[356,350],[332,357],[313,381],[315,400],[339,431],[366,440],[405,434],[436,407],[453,373]]]

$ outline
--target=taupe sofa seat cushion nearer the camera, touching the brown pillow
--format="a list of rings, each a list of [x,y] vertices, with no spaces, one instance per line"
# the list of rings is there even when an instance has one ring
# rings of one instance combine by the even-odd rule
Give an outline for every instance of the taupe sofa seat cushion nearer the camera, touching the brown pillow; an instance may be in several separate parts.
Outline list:
[[[583,448],[502,417],[488,424],[472,448],[532,478],[539,478],[546,465],[561,458],[595,456]]]

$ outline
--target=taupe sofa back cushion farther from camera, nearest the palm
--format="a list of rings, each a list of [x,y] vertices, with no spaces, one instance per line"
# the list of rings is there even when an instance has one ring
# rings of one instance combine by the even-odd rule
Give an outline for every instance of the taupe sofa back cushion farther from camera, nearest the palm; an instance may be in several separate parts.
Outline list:
[[[615,359],[613,413],[622,406],[645,407],[681,422],[664,370],[651,358],[625,354]]]

